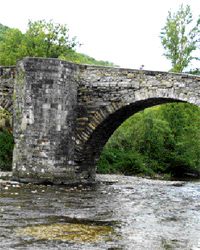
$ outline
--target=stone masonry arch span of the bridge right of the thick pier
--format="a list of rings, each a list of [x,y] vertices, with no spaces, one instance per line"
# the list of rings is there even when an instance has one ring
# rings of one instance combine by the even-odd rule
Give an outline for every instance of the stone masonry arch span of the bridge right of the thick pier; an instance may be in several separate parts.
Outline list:
[[[199,76],[92,66],[79,70],[75,161],[92,176],[103,146],[129,116],[167,102],[200,106]]]

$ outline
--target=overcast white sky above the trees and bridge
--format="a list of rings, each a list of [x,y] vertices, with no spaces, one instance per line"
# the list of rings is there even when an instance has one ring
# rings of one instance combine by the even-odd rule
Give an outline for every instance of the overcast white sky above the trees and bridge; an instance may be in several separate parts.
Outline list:
[[[200,0],[4,0],[0,23],[25,31],[29,19],[52,19],[68,25],[82,53],[121,67],[167,71],[159,35],[168,11],[181,3],[194,18],[200,14]]]

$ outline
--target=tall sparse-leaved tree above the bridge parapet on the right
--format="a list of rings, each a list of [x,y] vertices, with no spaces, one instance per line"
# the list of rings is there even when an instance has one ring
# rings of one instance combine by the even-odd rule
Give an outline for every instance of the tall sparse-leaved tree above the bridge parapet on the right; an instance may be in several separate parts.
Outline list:
[[[192,27],[193,17],[190,7],[180,6],[176,13],[169,11],[166,25],[160,37],[166,50],[165,56],[171,60],[173,72],[182,72],[193,59],[200,60],[192,55],[200,49],[200,17]]]

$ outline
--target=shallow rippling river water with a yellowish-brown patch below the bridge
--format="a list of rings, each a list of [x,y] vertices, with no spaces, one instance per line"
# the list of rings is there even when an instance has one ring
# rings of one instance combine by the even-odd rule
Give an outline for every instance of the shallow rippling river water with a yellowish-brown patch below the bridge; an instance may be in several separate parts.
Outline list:
[[[200,249],[200,182],[0,184],[0,249]]]

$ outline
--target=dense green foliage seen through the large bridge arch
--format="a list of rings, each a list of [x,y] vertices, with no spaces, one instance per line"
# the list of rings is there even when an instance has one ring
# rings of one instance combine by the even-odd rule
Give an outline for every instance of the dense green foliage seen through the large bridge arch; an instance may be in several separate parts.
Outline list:
[[[200,175],[200,109],[172,103],[127,119],[106,144],[100,173]]]

